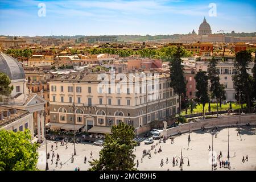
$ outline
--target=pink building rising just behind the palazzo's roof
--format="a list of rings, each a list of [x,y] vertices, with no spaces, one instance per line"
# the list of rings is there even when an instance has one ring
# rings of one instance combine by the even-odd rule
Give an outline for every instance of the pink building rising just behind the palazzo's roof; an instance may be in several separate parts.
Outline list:
[[[162,60],[158,59],[133,59],[128,60],[128,69],[162,68]]]

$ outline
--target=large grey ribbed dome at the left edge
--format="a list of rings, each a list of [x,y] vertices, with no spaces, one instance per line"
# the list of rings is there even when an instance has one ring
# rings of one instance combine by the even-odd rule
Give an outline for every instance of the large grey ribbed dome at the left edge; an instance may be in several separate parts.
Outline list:
[[[19,61],[5,53],[0,53],[0,72],[8,75],[11,80],[26,78],[24,69]]]

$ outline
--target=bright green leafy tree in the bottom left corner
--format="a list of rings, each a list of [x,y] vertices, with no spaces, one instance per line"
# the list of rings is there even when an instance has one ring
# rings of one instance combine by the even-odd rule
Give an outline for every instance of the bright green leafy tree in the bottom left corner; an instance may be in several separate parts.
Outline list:
[[[37,170],[38,143],[31,143],[31,133],[0,130],[0,171]]]

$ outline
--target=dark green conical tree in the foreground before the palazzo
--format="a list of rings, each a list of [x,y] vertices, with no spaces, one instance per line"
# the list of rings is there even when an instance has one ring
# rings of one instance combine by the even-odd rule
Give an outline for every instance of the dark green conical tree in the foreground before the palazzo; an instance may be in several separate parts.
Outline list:
[[[89,171],[131,171],[134,168],[135,155],[133,154],[134,127],[121,122],[112,126],[112,134],[107,134],[100,159],[93,159]]]

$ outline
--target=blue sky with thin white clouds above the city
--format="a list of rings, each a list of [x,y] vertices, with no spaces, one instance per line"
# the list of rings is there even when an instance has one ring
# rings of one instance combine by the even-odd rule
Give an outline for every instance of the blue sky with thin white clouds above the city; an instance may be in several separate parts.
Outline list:
[[[39,3],[46,16],[38,16]],[[217,16],[209,16],[210,3]],[[188,34],[204,16],[213,33],[256,31],[255,0],[0,0],[0,35]]]

